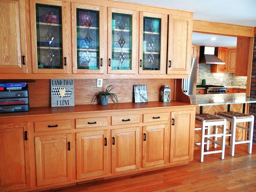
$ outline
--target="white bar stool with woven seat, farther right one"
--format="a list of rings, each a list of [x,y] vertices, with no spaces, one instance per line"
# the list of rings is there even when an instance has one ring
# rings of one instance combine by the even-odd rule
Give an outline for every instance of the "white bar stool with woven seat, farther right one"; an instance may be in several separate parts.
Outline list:
[[[235,145],[236,144],[246,144],[248,145],[248,153],[252,153],[252,137],[253,137],[253,128],[254,128],[254,116],[247,115],[239,112],[217,112],[218,117],[225,118],[227,121],[231,122],[230,129],[227,129],[230,134],[226,134],[226,136],[230,136],[230,144],[226,145],[230,148],[230,155],[234,156],[235,154]],[[237,123],[248,122],[250,124],[249,128],[239,126]],[[245,141],[236,140],[236,128],[242,128],[249,131],[248,139]]]

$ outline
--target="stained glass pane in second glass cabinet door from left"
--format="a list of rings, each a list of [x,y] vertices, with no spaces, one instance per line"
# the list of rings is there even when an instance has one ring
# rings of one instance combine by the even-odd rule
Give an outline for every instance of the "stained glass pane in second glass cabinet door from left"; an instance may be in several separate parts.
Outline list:
[[[99,69],[99,11],[76,9],[77,68]]]

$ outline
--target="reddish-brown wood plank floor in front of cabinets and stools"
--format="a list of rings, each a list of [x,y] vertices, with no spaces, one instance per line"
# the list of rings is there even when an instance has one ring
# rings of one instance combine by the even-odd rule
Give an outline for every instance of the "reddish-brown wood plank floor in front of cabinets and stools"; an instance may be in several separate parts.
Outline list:
[[[201,163],[196,150],[188,165],[45,192],[256,192],[256,145],[252,154],[241,144],[234,157],[229,153],[226,148],[224,160],[220,154],[205,155]]]

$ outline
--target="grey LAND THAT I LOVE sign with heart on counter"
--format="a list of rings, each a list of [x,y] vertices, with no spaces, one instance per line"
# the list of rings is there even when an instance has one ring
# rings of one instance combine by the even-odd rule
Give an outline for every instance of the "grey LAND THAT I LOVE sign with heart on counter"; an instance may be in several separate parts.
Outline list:
[[[74,80],[51,79],[52,107],[75,106]]]

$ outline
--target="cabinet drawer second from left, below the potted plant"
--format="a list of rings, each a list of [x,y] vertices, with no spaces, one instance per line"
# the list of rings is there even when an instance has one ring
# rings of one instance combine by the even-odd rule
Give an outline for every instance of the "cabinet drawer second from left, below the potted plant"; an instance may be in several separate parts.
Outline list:
[[[108,117],[76,119],[76,129],[108,126]]]

